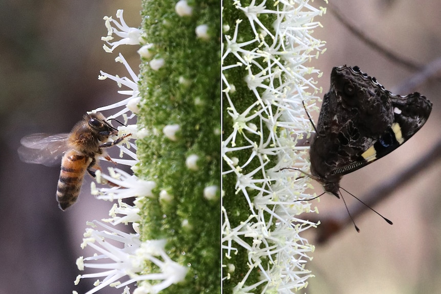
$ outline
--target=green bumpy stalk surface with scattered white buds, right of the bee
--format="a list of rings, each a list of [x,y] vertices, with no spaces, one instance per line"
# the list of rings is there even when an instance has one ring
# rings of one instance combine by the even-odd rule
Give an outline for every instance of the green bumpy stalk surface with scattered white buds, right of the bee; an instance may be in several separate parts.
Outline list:
[[[154,198],[141,209],[141,240],[166,239],[168,256],[187,265],[185,281],[161,293],[220,292],[220,2],[188,1],[192,14],[179,16],[176,1],[143,1],[145,41],[152,58],[141,63],[137,141],[138,176],[154,180]],[[209,39],[195,28],[208,25]],[[152,59],[164,59],[159,70]],[[163,133],[179,125],[175,140]],[[197,155],[196,169],[186,166]],[[204,189],[216,186],[215,199]],[[160,197],[160,195],[167,195]],[[146,273],[157,272],[146,264]]]

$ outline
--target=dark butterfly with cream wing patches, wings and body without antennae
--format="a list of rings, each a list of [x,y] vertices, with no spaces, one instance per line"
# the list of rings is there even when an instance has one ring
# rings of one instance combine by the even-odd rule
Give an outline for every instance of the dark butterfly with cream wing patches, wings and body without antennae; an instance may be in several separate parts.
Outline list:
[[[431,109],[421,94],[394,95],[358,66],[334,67],[311,144],[311,174],[339,197],[343,175],[401,146]]]

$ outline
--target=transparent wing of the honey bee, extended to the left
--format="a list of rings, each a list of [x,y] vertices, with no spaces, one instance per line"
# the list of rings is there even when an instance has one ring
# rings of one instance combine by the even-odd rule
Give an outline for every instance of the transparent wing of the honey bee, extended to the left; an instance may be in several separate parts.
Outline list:
[[[69,133],[28,135],[20,140],[21,146],[18,148],[18,155],[20,160],[26,163],[46,166],[59,165],[63,153],[69,149],[68,138]]]

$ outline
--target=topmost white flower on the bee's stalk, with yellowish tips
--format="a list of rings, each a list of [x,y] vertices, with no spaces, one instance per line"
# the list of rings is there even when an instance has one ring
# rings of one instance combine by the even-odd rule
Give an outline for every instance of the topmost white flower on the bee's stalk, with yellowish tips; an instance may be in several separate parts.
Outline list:
[[[112,16],[104,16],[105,26],[107,28],[107,36],[102,37],[101,40],[106,41],[110,46],[112,46],[112,48],[108,48],[106,45],[103,45],[103,49],[105,52],[112,53],[115,48],[117,48],[121,44],[139,45],[142,41],[142,30],[137,28],[130,28],[129,26],[127,26],[122,16],[122,13],[122,9],[119,9],[116,13],[116,16],[120,20],[120,23],[113,19]],[[112,24],[115,27],[113,27]],[[114,39],[114,37],[112,36],[114,33],[118,37],[121,37],[121,39],[119,41],[110,42]]]

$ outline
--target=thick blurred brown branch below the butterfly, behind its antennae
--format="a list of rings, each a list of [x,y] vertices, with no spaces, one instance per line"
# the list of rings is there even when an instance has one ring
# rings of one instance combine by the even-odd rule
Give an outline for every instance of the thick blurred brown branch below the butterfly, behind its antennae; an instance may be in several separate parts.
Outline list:
[[[390,194],[396,189],[402,187],[419,176],[420,173],[426,171],[431,165],[437,163],[437,160],[441,157],[441,139],[435,144],[435,146],[421,159],[413,163],[407,169],[403,170],[401,173],[396,174],[394,177],[389,178],[383,184],[377,186],[370,190],[366,195],[362,197],[363,201],[373,207],[380,201],[386,199]],[[353,218],[359,217],[368,208],[366,208],[362,203],[356,202],[353,206],[349,208]],[[342,215],[345,215],[342,217]],[[308,219],[311,221],[318,221],[317,216],[308,215]],[[346,213],[338,213],[333,216],[328,216],[325,218],[320,218],[321,224],[317,227],[317,243],[324,243],[330,238],[337,235],[347,224],[352,224],[349,216]]]

